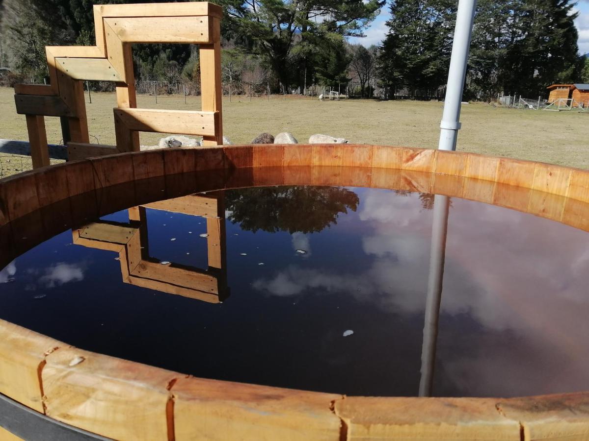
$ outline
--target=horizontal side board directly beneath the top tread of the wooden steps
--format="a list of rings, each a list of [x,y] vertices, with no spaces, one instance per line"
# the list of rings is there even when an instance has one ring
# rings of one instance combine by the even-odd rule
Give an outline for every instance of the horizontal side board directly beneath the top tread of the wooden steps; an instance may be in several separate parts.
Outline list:
[[[209,17],[117,17],[105,18],[105,28],[111,28],[124,43],[184,43],[210,44]],[[110,32],[110,31],[107,31]]]

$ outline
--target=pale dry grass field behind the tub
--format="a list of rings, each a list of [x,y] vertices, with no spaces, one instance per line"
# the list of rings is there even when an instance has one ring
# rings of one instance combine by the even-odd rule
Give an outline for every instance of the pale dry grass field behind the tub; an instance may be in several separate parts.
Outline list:
[[[88,101],[88,100],[87,100]],[[138,107],[200,109],[200,98],[140,95]],[[92,93],[86,105],[91,142],[114,144],[112,108],[114,93]],[[342,100],[318,102],[297,96],[228,98],[223,101],[224,135],[233,143],[248,143],[260,132],[292,132],[299,142],[313,133],[349,139],[353,143],[378,143],[423,148],[438,145],[441,102]],[[0,88],[0,138],[27,140],[23,115],[17,115],[13,91]],[[462,106],[458,150],[531,159],[589,168],[589,113],[549,112],[495,108],[484,103]],[[58,118],[46,118],[50,143],[61,141]],[[141,143],[153,145],[161,138],[141,133]]]

